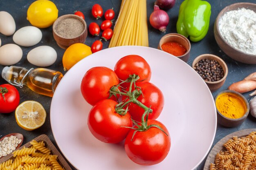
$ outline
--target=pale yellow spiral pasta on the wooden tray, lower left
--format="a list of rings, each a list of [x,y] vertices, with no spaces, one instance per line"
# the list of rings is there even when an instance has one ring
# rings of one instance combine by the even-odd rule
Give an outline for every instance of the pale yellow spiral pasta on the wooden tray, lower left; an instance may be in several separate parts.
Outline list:
[[[58,163],[58,155],[51,155],[43,141],[31,141],[31,147],[14,151],[13,159],[0,163],[0,170],[65,170]]]

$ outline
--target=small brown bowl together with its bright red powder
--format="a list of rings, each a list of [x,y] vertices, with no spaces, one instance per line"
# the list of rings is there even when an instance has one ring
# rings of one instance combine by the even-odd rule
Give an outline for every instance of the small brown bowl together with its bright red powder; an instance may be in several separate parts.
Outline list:
[[[189,39],[178,33],[164,35],[158,44],[158,49],[170,53],[184,62],[189,60],[190,48]]]

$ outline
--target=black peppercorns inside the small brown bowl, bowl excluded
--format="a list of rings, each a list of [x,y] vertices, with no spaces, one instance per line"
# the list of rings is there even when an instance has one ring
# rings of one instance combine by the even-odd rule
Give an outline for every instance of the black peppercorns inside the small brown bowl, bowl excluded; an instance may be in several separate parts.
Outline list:
[[[223,68],[216,60],[202,59],[195,64],[194,69],[208,82],[216,82],[224,77]]]

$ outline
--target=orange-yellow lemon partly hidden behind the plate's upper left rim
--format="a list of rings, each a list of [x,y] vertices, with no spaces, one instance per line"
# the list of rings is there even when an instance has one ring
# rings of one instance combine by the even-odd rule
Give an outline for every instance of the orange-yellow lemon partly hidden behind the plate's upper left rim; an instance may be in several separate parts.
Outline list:
[[[69,70],[77,62],[91,55],[91,47],[82,43],[75,43],[69,46],[62,57],[64,71]]]

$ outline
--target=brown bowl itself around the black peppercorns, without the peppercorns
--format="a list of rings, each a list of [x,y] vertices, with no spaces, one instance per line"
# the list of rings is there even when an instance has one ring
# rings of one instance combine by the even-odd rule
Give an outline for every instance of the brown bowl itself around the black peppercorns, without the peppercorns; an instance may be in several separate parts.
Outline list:
[[[204,80],[204,82],[209,87],[210,91],[214,92],[214,91],[218,90],[218,88],[220,88],[225,83],[227,73],[228,73],[227,64],[220,57],[218,57],[216,55],[202,54],[195,58],[195,60],[192,63],[192,68],[195,69],[195,64],[197,64],[200,60],[203,60],[203,59],[216,60],[217,62],[219,62],[220,66],[222,66],[222,69],[224,71],[224,77],[222,77],[222,79],[220,79],[218,81],[209,82],[209,81]]]

